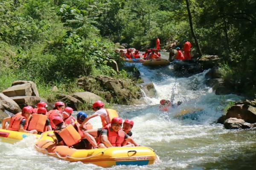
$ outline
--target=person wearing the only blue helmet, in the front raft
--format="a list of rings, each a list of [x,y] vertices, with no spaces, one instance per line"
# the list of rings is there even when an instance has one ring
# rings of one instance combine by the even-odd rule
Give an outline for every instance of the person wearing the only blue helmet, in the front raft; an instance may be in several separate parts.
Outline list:
[[[75,148],[76,149],[91,149],[92,145],[86,138],[84,138],[84,131],[92,129],[93,125],[91,125],[90,122],[87,122],[86,124],[84,124],[83,128],[79,127],[81,125],[81,123],[84,121],[84,119],[87,118],[87,114],[83,111],[78,112],[76,117],[77,117],[77,119],[76,119],[77,122],[74,124],[74,127],[75,127],[76,131],[78,131],[78,133],[80,134],[82,139],[81,139],[81,142],[79,142],[78,144],[75,145]]]

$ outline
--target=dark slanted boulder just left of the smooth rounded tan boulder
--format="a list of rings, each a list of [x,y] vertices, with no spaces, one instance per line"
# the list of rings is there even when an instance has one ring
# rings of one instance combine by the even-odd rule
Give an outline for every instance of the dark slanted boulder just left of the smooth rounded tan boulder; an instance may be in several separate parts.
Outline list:
[[[78,111],[82,102],[79,99],[76,99],[73,96],[66,95],[66,94],[57,94],[57,97],[60,101],[66,103],[66,105],[70,108],[73,108],[75,111]]]

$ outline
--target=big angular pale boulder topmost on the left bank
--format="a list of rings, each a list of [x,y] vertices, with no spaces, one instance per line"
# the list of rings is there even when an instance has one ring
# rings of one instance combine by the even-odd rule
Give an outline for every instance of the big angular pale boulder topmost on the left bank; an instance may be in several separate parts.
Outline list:
[[[15,81],[11,87],[3,90],[3,94],[8,97],[39,96],[35,83],[31,81]]]

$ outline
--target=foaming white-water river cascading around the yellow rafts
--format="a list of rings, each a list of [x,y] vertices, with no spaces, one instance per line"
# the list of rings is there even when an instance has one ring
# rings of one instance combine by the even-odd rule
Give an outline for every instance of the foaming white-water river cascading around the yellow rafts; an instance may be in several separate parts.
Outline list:
[[[162,54],[167,57],[166,53]],[[177,170],[177,169],[255,169],[256,131],[226,130],[215,121],[224,113],[230,101],[242,100],[241,96],[215,95],[205,85],[205,74],[178,77],[173,66],[148,68],[140,63],[135,65],[145,82],[153,82],[156,98],[145,96],[146,105],[116,105],[122,118],[134,120],[134,139],[141,145],[156,150],[160,161],[155,164],[138,166],[116,166],[109,170]],[[180,106],[168,112],[158,109],[160,99]],[[188,113],[188,114],[184,114]],[[100,127],[100,119],[90,122]],[[93,164],[67,162],[38,153],[29,136],[21,142],[8,144],[0,142],[1,170],[100,170]]]

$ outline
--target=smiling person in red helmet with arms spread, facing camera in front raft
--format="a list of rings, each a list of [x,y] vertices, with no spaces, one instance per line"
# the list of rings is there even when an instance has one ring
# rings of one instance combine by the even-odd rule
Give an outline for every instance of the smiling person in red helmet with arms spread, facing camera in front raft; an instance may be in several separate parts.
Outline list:
[[[115,117],[111,121],[111,125],[104,127],[100,133],[99,148],[107,147],[133,147],[139,146],[134,139],[128,136],[122,129],[122,118]],[[131,144],[123,145],[124,142]]]

